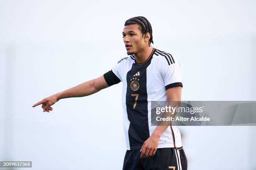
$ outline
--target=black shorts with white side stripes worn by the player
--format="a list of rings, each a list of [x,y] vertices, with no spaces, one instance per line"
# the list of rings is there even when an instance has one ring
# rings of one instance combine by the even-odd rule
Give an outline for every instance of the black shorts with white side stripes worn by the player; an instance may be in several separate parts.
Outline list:
[[[187,158],[183,149],[158,148],[154,156],[143,159],[140,150],[127,150],[123,170],[187,170]]]

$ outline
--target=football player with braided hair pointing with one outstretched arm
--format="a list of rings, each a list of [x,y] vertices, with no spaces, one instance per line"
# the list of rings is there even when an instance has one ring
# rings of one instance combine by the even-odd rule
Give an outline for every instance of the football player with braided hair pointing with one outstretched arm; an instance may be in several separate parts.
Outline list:
[[[94,80],[56,93],[33,105],[44,112],[63,98],[92,95],[123,82],[123,122],[127,151],[123,170],[187,170],[179,130],[172,126],[151,126],[151,101],[180,101],[180,65],[169,53],[151,47],[151,24],[145,17],[125,22],[123,42],[129,57]]]

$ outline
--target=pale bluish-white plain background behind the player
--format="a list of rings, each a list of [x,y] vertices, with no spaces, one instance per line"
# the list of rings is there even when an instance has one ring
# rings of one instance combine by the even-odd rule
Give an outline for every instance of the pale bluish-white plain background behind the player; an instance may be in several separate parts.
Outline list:
[[[60,100],[50,113],[31,106],[126,57],[121,32],[134,16],[151,22],[154,47],[179,59],[182,100],[256,100],[254,0],[1,0],[0,160],[122,168],[121,83]],[[255,127],[179,129],[189,170],[256,169]]]

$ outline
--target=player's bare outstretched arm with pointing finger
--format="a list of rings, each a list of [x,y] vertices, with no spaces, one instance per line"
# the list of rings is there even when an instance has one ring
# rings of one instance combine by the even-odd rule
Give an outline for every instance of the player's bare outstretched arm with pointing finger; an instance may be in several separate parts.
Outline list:
[[[69,98],[69,97],[84,97],[87,95],[92,95],[95,92],[98,92],[106,87],[109,87],[109,86],[104,76],[102,75],[96,79],[83,82],[82,84],[79,84],[75,87],[69,88],[62,92],[46,97],[40,102],[37,102],[36,104],[34,104],[32,107],[36,107],[42,104],[42,108],[44,109],[43,111],[50,112],[50,110],[53,110],[51,105],[54,105],[54,103],[56,103],[60,99]]]

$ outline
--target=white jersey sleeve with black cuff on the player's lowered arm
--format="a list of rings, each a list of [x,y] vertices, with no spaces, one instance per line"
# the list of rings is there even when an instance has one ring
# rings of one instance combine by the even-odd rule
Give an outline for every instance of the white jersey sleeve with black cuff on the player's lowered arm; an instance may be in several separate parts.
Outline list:
[[[166,90],[176,86],[183,87],[180,64],[177,60],[173,64],[167,63],[165,59],[161,60],[159,70],[164,79]]]

